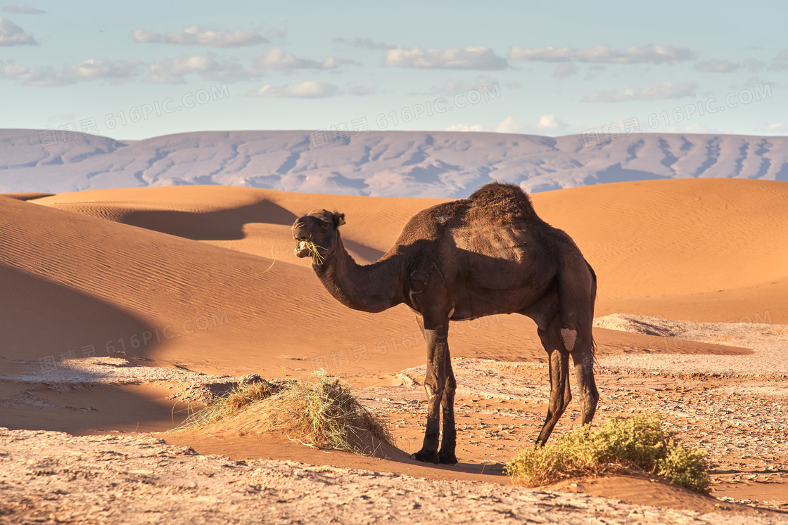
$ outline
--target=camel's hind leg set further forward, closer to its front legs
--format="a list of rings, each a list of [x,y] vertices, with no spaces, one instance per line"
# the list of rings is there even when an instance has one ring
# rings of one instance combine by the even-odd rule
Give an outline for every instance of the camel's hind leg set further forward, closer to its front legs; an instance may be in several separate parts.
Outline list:
[[[557,317],[552,320],[547,330],[540,328],[538,333],[542,346],[545,347],[550,358],[550,405],[548,405],[545,424],[537,439],[537,444],[544,445],[552,434],[553,427],[572,401],[572,394],[569,390],[569,353],[564,349]]]

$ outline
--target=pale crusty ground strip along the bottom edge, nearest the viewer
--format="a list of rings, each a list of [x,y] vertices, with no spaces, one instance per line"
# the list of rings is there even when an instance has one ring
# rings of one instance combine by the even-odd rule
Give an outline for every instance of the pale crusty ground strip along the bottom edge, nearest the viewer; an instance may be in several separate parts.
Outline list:
[[[282,461],[135,436],[0,431],[5,523],[788,523]]]

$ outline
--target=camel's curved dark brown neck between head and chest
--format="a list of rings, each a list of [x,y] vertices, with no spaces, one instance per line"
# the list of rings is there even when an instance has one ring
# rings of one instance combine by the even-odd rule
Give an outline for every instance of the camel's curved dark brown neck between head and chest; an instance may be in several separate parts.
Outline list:
[[[382,312],[402,302],[399,254],[386,254],[373,264],[358,264],[339,238],[336,250],[314,272],[329,293],[343,305],[362,312]]]

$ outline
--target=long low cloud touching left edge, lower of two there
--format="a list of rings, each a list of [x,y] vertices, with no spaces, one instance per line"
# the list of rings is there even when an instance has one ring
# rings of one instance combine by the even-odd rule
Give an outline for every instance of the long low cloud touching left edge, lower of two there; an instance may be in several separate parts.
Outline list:
[[[68,65],[61,71],[54,68],[28,68],[14,61],[0,61],[0,78],[17,80],[25,86],[66,86],[80,80],[114,79],[120,82],[137,74],[139,61],[86,60]]]

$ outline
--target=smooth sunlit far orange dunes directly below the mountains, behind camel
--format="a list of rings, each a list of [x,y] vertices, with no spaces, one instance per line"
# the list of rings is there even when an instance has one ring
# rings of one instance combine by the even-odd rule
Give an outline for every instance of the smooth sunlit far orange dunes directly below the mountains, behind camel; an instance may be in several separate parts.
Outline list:
[[[788,183],[682,179],[605,184],[533,195],[600,279],[597,315],[788,322]],[[92,190],[36,203],[215,246],[290,257],[289,228],[310,209],[340,210],[343,238],[363,262],[380,257],[418,210],[438,200],[292,194],[237,187]],[[278,263],[277,263],[278,264]]]

